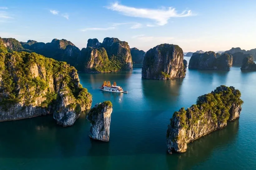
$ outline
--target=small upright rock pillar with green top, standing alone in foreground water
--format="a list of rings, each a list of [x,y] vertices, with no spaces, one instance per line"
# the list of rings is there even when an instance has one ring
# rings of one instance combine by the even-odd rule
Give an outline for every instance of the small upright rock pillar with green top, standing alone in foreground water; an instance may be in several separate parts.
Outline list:
[[[97,103],[90,110],[86,117],[91,122],[90,138],[105,142],[109,141],[112,110],[112,103],[110,101]]]

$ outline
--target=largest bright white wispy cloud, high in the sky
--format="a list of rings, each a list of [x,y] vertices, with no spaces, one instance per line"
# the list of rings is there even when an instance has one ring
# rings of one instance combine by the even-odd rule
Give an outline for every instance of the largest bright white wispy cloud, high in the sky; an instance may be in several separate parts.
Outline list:
[[[112,11],[120,12],[123,15],[130,17],[140,17],[155,20],[158,25],[163,26],[168,23],[171,17],[188,17],[192,15],[191,10],[185,10],[178,13],[175,8],[168,7],[162,9],[146,9],[146,8],[135,8],[121,5],[118,2],[110,4],[107,7]]]

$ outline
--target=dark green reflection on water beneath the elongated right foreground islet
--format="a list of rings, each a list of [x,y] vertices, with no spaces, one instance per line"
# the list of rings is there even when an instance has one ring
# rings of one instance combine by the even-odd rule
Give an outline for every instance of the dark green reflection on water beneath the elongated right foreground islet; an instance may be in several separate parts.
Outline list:
[[[214,150],[227,148],[235,142],[239,130],[239,120],[228,122],[228,125],[209,135],[203,136],[188,144],[185,153],[167,155],[168,169],[190,169],[198,163],[206,161]]]

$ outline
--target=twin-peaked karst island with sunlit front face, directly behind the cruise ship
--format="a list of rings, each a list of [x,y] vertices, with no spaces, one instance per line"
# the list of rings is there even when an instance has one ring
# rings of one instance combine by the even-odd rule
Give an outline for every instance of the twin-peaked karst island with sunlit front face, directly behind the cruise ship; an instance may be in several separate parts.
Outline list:
[[[81,50],[79,70],[86,72],[116,72],[132,68],[130,47],[117,38],[105,38],[102,43],[89,39],[87,47]]]

